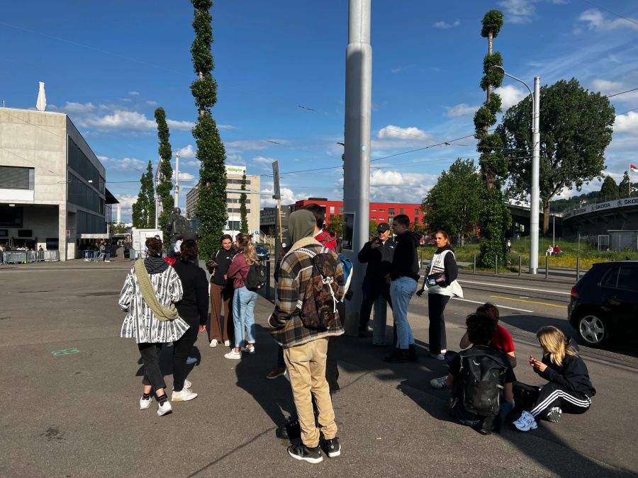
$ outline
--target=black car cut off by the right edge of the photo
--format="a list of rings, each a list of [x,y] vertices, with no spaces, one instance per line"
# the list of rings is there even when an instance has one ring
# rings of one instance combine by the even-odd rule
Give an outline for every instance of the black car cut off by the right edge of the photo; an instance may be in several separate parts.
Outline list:
[[[638,261],[594,264],[571,288],[567,314],[588,346],[638,343]]]

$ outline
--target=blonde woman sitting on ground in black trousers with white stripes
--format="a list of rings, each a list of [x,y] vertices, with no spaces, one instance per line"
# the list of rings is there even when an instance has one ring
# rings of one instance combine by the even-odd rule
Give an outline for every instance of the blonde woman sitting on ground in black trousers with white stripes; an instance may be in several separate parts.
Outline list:
[[[539,392],[530,411],[523,411],[513,425],[520,431],[537,428],[537,419],[556,423],[563,412],[584,414],[591,406],[596,390],[591,385],[587,365],[578,355],[576,343],[554,326],[544,326],[536,338],[543,349],[543,358],[530,355],[530,367],[547,384]]]

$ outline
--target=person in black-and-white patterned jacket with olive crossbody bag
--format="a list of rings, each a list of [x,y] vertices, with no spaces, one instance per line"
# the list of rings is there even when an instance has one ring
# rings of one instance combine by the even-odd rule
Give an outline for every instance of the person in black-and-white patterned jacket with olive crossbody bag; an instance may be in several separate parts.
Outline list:
[[[159,353],[162,344],[175,342],[189,329],[189,324],[179,317],[174,302],[184,295],[181,280],[174,268],[162,259],[162,241],[146,240],[148,256],[135,261],[129,271],[118,303],[127,312],[120,336],[135,338],[144,364],[144,389],[140,409],[151,405],[151,393],[159,406],[159,416],[169,414],[172,406],[166,396],[166,382],[159,369]]]

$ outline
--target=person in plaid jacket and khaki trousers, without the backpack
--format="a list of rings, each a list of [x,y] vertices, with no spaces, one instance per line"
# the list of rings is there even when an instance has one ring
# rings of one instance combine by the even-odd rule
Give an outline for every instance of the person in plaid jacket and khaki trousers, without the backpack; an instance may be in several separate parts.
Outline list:
[[[319,254],[323,246],[314,239],[315,217],[308,210],[298,210],[289,217],[289,234],[293,245],[281,261],[281,273],[277,283],[275,310],[269,319],[271,334],[284,348],[284,360],[288,369],[297,415],[301,425],[301,445],[291,445],[288,453],[297,460],[318,463],[323,460],[321,448],[328,457],[341,453],[335,412],[332,410],[330,387],[325,380],[325,359],[328,337],[342,335],[340,318],[328,330],[318,331],[303,326],[299,312],[303,304],[306,285],[313,273],[313,259],[298,249],[308,249]],[[337,259],[335,281],[339,285],[337,300],[343,296],[344,277]],[[324,440],[319,443],[319,430],[315,426],[312,398],[319,409]],[[320,446],[321,445],[321,448]]]

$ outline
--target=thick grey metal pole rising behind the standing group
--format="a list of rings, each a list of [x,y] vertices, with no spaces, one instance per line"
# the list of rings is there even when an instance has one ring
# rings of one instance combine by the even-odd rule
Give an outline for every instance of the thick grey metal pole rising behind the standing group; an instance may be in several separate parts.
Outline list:
[[[371,0],[349,0],[345,84],[344,212],[354,212],[352,249],[344,250],[353,263],[368,240],[370,215],[370,127],[372,110]],[[347,334],[357,334],[364,271],[352,271],[352,300],[346,301]]]

